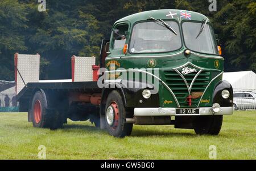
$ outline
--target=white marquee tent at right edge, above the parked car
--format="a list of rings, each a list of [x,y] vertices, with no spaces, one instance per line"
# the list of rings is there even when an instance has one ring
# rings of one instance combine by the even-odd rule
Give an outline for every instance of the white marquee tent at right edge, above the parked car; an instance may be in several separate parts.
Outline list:
[[[232,85],[234,92],[251,91],[256,93],[256,74],[253,71],[225,72],[223,80]]]

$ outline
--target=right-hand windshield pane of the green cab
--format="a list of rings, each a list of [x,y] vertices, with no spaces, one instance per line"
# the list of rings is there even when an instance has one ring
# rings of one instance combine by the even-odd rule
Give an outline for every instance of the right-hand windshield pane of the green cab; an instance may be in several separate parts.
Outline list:
[[[182,24],[185,45],[188,49],[196,52],[218,54],[212,27],[209,24],[205,24],[202,30],[202,24],[204,23],[184,22]]]

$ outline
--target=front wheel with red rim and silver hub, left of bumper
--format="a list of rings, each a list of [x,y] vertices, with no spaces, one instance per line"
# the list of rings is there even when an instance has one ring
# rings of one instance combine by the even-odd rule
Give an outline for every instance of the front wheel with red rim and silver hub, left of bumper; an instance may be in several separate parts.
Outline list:
[[[126,116],[122,97],[117,91],[110,92],[105,108],[106,129],[110,135],[122,138],[131,134],[133,123],[126,123]]]

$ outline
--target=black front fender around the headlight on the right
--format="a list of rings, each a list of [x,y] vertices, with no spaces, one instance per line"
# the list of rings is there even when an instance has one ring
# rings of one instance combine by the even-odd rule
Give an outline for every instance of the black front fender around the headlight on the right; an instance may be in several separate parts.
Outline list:
[[[230,96],[228,99],[224,99],[221,96],[221,92],[227,89],[230,93]],[[221,107],[232,107],[233,106],[233,88],[231,84],[225,80],[221,80],[218,82],[217,86],[214,89],[213,92],[213,103],[220,104]]]

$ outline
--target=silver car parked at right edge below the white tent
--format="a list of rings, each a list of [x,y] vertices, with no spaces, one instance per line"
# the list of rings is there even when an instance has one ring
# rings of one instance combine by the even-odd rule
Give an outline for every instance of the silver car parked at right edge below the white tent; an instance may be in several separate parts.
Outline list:
[[[256,109],[256,93],[234,92],[234,109]]]

